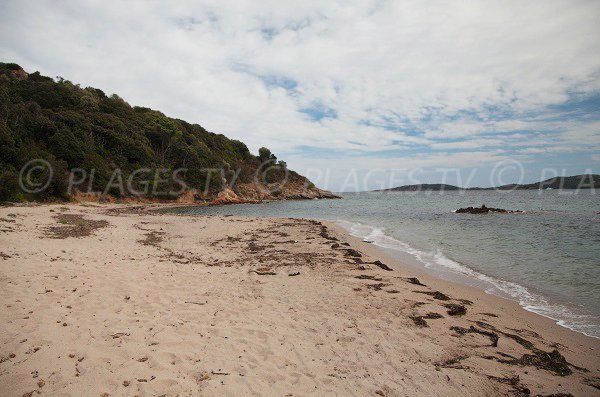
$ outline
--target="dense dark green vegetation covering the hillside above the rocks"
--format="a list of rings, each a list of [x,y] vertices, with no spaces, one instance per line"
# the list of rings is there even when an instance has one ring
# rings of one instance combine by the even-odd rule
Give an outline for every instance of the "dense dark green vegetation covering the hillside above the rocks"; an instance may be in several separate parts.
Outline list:
[[[274,169],[266,176],[268,182],[283,178],[286,167],[267,148],[254,156],[242,142],[200,125],[132,107],[97,88],[81,88],[39,72],[27,75],[14,63],[0,63],[0,153],[0,201],[68,199],[72,169],[82,170],[77,182],[83,190],[89,185],[92,191],[104,191],[112,185],[115,169],[121,170],[123,180],[132,177],[139,191],[149,174],[138,175],[135,170],[185,168],[178,178],[187,186],[203,190],[208,185],[211,192],[217,192],[224,182],[236,178],[242,183],[252,181],[264,161],[272,162]],[[31,159],[44,159],[54,170],[50,186],[36,194],[26,194],[18,184],[21,168]],[[214,169],[223,169],[225,180],[215,177]],[[34,182],[47,177],[43,173],[31,176]],[[150,173],[150,178],[160,176]],[[130,193],[114,186],[108,192],[114,196]]]

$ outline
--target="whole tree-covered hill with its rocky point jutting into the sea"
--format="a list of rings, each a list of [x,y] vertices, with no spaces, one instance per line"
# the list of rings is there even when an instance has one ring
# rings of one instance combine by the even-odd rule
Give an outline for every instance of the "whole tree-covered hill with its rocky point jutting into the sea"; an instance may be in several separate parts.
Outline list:
[[[14,63],[0,63],[0,153],[0,201],[336,197],[267,148],[255,156],[244,143],[198,124]],[[52,169],[25,174],[34,186],[50,180],[39,192],[19,185],[33,159]]]

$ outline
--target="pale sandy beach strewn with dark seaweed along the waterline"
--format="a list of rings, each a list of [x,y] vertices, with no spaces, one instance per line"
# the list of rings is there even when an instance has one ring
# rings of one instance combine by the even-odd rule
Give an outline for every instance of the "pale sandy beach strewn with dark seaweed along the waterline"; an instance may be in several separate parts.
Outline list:
[[[157,207],[0,208],[0,395],[600,394],[598,339],[334,224]]]

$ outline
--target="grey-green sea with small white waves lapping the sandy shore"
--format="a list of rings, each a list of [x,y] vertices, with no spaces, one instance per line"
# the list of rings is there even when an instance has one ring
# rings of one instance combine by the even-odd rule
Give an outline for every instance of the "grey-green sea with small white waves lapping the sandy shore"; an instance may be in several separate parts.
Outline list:
[[[600,338],[600,192],[342,193],[341,200],[171,209],[329,220],[408,266],[518,302]],[[481,206],[522,213],[456,213]]]

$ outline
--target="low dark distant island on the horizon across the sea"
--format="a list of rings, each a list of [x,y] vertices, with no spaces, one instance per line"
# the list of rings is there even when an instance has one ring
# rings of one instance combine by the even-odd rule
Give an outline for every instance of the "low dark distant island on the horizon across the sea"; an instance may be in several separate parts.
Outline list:
[[[404,185],[393,187],[389,189],[379,189],[376,192],[427,192],[427,191],[456,191],[456,190],[544,190],[544,189],[557,189],[557,190],[568,190],[568,189],[600,189],[600,175],[588,174],[588,175],[574,175],[574,176],[557,176],[554,178],[546,179],[541,182],[528,183],[524,185],[520,184],[509,184],[497,187],[470,187],[462,188],[454,185],[447,185],[444,183],[433,183],[433,184],[417,184],[417,185]]]

